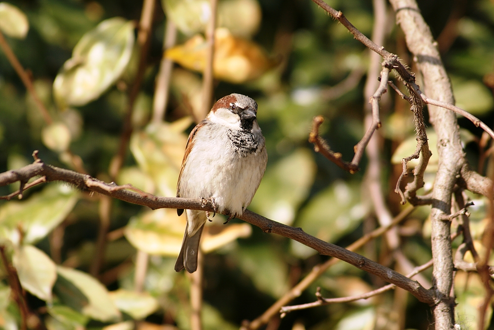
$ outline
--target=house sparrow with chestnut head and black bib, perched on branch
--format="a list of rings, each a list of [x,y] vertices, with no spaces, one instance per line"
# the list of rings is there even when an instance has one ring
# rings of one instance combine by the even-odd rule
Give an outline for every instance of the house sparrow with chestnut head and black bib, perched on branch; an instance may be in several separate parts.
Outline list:
[[[192,130],[178,177],[177,197],[204,198],[215,212],[241,216],[259,187],[268,160],[256,120],[257,103],[241,94],[219,99]],[[183,209],[178,209],[180,216]],[[186,210],[187,227],[175,271],[197,269],[205,211]]]

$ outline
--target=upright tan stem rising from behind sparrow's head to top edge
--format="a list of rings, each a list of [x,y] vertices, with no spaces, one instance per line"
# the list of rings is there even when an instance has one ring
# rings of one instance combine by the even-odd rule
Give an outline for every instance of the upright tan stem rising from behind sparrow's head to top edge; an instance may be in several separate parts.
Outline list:
[[[213,99],[213,75],[214,75],[214,30],[216,29],[216,12],[218,0],[209,0],[211,4],[211,17],[206,27],[206,65],[203,74],[203,106],[201,109],[201,120],[206,117],[211,109]]]

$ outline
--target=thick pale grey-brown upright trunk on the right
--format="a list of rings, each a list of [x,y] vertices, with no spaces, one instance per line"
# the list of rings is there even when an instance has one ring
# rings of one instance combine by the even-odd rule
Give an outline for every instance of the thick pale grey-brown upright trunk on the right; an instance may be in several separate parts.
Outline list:
[[[396,19],[414,55],[423,76],[424,91],[431,98],[454,103],[448,75],[441,61],[437,43],[425,23],[414,0],[390,0]],[[461,148],[456,117],[429,104],[430,121],[438,136],[439,166],[432,192],[432,255],[434,260],[433,289],[439,303],[434,306],[436,329],[453,329],[454,298],[450,296],[453,284],[453,257],[451,251],[450,222],[441,220],[451,213],[451,197],[456,176],[465,162]]]

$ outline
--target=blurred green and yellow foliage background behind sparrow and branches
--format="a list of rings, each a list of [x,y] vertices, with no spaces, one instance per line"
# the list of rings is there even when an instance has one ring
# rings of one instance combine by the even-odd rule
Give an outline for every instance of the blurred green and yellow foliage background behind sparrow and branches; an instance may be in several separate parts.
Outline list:
[[[327,2],[371,36],[371,1]],[[494,1],[418,2],[438,40],[457,105],[492,125]],[[107,182],[131,183],[157,195],[175,195],[187,135],[201,120],[198,71],[205,66],[209,1],[157,1],[149,53],[139,68],[142,45],[136,26],[141,10],[140,1],[128,0],[0,2],[0,31],[47,109],[43,115],[5,51],[0,51],[0,172],[31,163],[33,150],[40,150],[48,164]],[[403,33],[388,11],[383,46],[416,72]],[[178,32],[177,46],[166,56],[177,64],[165,116],[152,120],[156,97],[164,93],[155,91],[155,81],[168,20]],[[366,48],[309,0],[220,0],[218,27],[214,98],[240,93],[258,102],[269,154],[266,174],[249,209],[341,246],[375,228],[362,185],[366,160],[360,172],[350,175],[315,153],[307,141],[313,117],[321,114],[326,118],[321,134],[331,149],[347,160],[353,156],[353,146],[366,129]],[[142,85],[132,96],[139,70]],[[394,193],[401,158],[415,149],[412,112],[397,96],[384,95],[383,127],[378,132],[382,187],[394,214],[402,209]],[[130,113],[129,99],[133,130],[128,152],[123,166],[112,172]],[[482,131],[463,118],[458,121],[471,165],[485,173],[492,163],[486,165],[480,157]],[[429,138],[434,157],[432,131]],[[435,164],[437,158],[435,163],[432,158],[425,189],[433,183]],[[18,185],[1,187],[0,194],[16,189]],[[473,236],[480,239],[487,223],[485,203],[478,196],[471,198]],[[430,207],[418,207],[399,227],[402,249],[414,265],[431,258],[429,212]],[[216,215],[208,224],[202,245],[205,329],[236,329],[243,320],[255,319],[312,267],[327,260],[240,220],[228,226],[223,221]],[[185,218],[177,217],[175,210],[150,211],[119,200],[104,201],[58,183],[27,190],[22,201],[0,201],[0,244],[17,269],[30,309],[49,330],[190,329],[190,279],[173,271],[184,227]],[[383,239],[358,252],[393,267]],[[136,261],[139,258],[148,260],[144,268]],[[3,265],[0,328],[21,329],[22,311],[12,298],[7,275]],[[424,273],[428,279],[430,275],[430,270]],[[476,274],[461,272],[455,281],[457,318],[473,328],[482,283]],[[293,303],[314,301],[318,286],[325,297],[340,297],[383,284],[339,263]],[[428,306],[387,292],[365,301],[275,317],[268,329],[430,329],[431,319]],[[36,322],[28,325],[43,329]]]

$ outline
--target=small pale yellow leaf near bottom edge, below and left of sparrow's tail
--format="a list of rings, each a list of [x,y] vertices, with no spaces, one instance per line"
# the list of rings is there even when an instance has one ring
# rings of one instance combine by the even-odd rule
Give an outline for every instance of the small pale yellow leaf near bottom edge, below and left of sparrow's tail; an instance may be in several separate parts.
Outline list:
[[[148,292],[119,289],[110,292],[110,298],[122,312],[135,320],[142,320],[159,307],[158,301]]]

